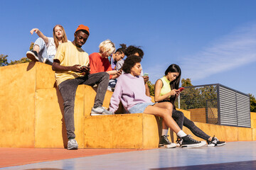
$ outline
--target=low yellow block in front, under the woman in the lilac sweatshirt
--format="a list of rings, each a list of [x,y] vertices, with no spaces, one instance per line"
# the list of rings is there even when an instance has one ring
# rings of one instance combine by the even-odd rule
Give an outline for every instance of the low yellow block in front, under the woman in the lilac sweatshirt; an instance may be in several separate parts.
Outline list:
[[[143,113],[85,116],[85,147],[156,148],[157,125],[154,115]]]

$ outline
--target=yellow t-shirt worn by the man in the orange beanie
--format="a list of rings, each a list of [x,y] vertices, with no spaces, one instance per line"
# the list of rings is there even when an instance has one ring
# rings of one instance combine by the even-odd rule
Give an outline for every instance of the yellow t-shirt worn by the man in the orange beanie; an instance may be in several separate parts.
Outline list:
[[[87,66],[90,62],[87,52],[82,48],[76,47],[72,42],[64,42],[58,46],[58,50],[54,59],[60,60],[61,66],[73,66],[80,64],[81,66]],[[75,79],[82,77],[84,73],[78,72],[55,72],[55,79],[57,85],[60,85],[65,80]]]

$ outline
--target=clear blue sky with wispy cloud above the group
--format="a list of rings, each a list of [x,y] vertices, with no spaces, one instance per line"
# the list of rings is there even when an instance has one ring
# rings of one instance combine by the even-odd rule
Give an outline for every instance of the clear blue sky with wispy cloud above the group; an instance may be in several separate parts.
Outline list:
[[[89,54],[112,40],[142,46],[143,71],[152,83],[170,64],[193,85],[223,84],[256,96],[255,0],[0,1],[0,54],[26,56],[32,28],[52,37],[61,24],[73,41],[80,24],[90,28]]]

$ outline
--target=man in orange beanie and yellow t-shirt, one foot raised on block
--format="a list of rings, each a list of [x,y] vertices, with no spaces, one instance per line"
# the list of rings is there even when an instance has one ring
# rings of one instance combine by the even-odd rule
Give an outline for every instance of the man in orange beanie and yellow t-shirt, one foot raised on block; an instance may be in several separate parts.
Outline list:
[[[73,42],[60,44],[53,60],[55,79],[64,101],[68,149],[78,149],[78,142],[75,140],[74,107],[75,92],[79,84],[90,86],[97,84],[98,86],[91,115],[113,114],[102,107],[110,75],[107,72],[90,74],[88,54],[81,48],[89,35],[89,28],[87,26],[78,26],[77,30],[75,30]]]

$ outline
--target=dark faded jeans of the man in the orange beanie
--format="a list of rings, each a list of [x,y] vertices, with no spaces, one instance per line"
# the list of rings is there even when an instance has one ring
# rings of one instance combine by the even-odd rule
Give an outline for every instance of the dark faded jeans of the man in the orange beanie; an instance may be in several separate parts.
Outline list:
[[[94,107],[102,106],[110,81],[110,75],[107,72],[99,72],[95,74],[85,75],[76,79],[68,79],[63,81],[58,89],[64,101],[64,119],[67,130],[68,139],[75,138],[74,108],[75,108],[75,92],[79,84],[93,86],[97,84],[97,94],[95,96]]]

